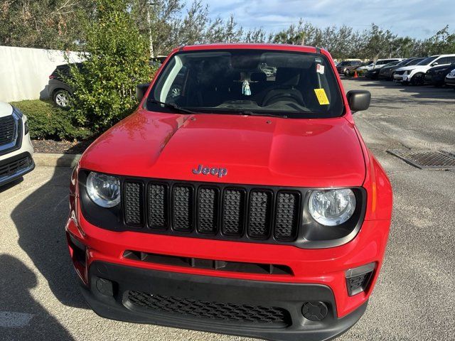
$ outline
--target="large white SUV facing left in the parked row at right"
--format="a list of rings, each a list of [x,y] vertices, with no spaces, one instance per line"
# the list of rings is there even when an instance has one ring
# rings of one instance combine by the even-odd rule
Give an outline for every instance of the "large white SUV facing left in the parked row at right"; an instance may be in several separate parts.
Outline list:
[[[449,65],[451,63],[455,63],[455,54],[432,55],[416,65],[400,67],[395,70],[393,80],[394,82],[402,82],[403,84],[422,85],[424,84],[425,72],[434,66]]]

